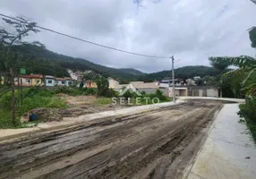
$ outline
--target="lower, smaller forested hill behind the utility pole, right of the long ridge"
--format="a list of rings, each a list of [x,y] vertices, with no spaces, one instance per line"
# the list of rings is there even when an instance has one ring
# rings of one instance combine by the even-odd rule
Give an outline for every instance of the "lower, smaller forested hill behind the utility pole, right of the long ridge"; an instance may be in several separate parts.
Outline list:
[[[195,66],[183,66],[175,69],[175,78],[193,78],[195,76],[216,76],[219,72],[213,67],[195,65]],[[152,72],[140,77],[141,81],[159,81],[165,77],[171,77],[172,71]]]

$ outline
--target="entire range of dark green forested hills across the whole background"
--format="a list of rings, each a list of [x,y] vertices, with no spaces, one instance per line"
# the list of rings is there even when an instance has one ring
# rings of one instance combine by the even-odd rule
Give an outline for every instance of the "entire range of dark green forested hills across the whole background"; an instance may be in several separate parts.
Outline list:
[[[56,54],[46,47],[30,44],[12,47],[15,52],[21,52],[21,66],[27,69],[27,73],[39,73],[56,77],[68,77],[66,69],[92,70],[106,77],[113,77],[121,82],[129,81],[159,81],[165,77],[171,77],[171,71],[143,73],[132,68],[115,69],[100,64],[94,64],[81,58],[73,58],[67,55]],[[4,63],[4,61],[0,62]],[[1,65],[0,65],[1,67]],[[215,76],[218,71],[209,66],[184,66],[175,69],[175,78],[192,78],[194,76]]]

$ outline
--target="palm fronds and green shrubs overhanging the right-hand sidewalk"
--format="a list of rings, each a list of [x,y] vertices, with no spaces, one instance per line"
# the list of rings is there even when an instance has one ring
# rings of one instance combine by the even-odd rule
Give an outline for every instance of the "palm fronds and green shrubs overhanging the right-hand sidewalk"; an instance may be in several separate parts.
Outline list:
[[[253,1],[253,3],[255,3]],[[256,4],[256,3],[255,3]],[[249,30],[251,46],[256,48],[256,27]],[[252,132],[252,137],[256,141],[256,58],[248,55],[236,57],[210,57],[211,64],[218,69],[226,69],[229,65],[235,65],[238,69],[226,72],[223,77],[229,78],[234,92],[243,93],[246,97],[245,104],[240,105],[240,116],[247,122],[248,128]]]

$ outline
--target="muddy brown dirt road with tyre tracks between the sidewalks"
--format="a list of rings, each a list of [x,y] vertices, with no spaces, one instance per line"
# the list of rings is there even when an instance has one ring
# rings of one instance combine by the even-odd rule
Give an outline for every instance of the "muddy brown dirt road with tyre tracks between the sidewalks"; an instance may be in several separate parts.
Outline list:
[[[191,101],[0,144],[0,178],[180,178],[222,107]]]

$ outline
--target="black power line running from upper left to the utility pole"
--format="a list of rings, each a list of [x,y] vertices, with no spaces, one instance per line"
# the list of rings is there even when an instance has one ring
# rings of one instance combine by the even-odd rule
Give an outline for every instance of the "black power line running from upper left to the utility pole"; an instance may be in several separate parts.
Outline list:
[[[19,19],[17,19],[17,18],[14,18],[14,17],[8,16],[8,15],[4,15],[3,13],[0,13],[0,15],[3,16],[3,17],[5,17],[5,18],[12,19],[12,20],[14,20],[14,21],[21,21],[21,22],[24,22],[24,23],[29,23],[29,22],[27,22],[27,21],[22,21],[22,20],[19,20]],[[86,43],[89,43],[89,44],[91,44],[91,45],[94,45],[94,46],[105,47],[105,48],[108,48],[108,49],[111,49],[111,50],[115,50],[115,51],[119,51],[119,52],[126,53],[126,54],[139,55],[139,56],[146,56],[146,57],[150,57],[150,58],[171,58],[171,57],[167,57],[167,56],[144,55],[144,54],[139,54],[139,53],[135,53],[135,52],[130,52],[130,51],[126,51],[126,50],[119,49],[119,48],[115,48],[115,47],[108,47],[108,46],[101,45],[101,44],[98,44],[98,43],[95,43],[95,42],[91,42],[91,41],[86,40],[86,39],[76,38],[76,37],[74,37],[74,36],[71,36],[71,35],[68,35],[68,34],[64,34],[64,33],[62,33],[62,32],[58,32],[58,31],[55,31],[55,30],[50,30],[50,29],[47,29],[47,28],[44,28],[44,27],[41,27],[41,26],[38,26],[38,25],[36,25],[36,27],[39,28],[39,29],[41,29],[41,30],[47,30],[47,31],[53,32],[53,33],[55,33],[55,34],[65,36],[65,37],[67,37],[67,38],[77,39],[77,40],[80,40],[80,41],[82,41],[82,42],[86,42]]]

